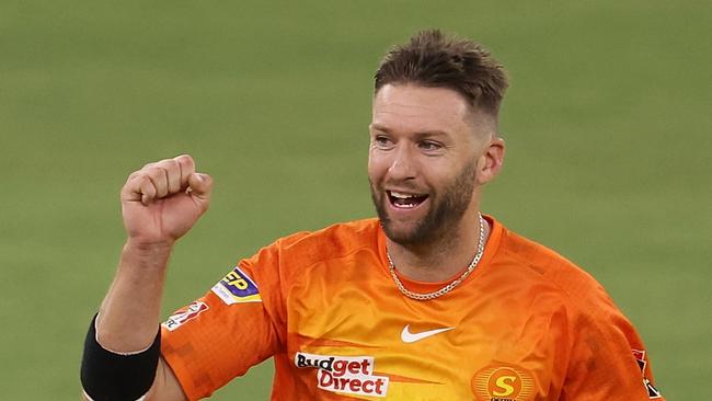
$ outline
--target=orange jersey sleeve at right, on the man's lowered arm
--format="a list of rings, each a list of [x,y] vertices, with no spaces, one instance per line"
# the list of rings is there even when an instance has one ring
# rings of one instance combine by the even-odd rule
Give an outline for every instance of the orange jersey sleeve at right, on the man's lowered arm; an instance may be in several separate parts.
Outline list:
[[[572,328],[562,400],[664,401],[655,388],[643,342],[602,288]]]

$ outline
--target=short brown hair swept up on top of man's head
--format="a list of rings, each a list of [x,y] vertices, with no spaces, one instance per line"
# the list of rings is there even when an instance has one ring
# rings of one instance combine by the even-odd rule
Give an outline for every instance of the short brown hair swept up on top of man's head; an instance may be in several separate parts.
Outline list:
[[[376,93],[388,83],[452,89],[495,118],[508,87],[504,67],[490,51],[439,30],[421,31],[407,44],[391,48],[375,78]]]

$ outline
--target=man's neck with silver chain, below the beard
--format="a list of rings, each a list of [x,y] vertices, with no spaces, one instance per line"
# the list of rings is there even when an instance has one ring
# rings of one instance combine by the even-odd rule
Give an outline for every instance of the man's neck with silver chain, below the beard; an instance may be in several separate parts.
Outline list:
[[[478,253],[480,224],[463,219],[459,229],[447,237],[422,244],[402,245],[387,239],[395,270],[404,277],[425,283],[444,282],[467,268]],[[490,225],[483,221],[483,244],[490,237]]]

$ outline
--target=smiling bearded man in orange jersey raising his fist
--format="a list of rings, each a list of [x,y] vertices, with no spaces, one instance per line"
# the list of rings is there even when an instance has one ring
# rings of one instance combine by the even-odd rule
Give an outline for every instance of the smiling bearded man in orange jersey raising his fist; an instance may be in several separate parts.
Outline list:
[[[130,174],[85,398],[196,400],[274,357],[274,400],[662,400],[604,289],[480,214],[506,87],[472,42],[427,31],[393,48],[369,127],[378,219],[277,240],[160,330],[169,255],[213,183],[188,156]]]

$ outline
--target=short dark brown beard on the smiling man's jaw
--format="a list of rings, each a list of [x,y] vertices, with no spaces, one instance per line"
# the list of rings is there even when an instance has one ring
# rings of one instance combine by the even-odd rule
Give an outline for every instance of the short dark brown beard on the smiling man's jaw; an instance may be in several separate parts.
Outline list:
[[[386,191],[377,188],[369,179],[371,199],[386,236],[401,245],[422,245],[443,241],[457,232],[457,226],[468,209],[474,192],[475,163],[466,165],[441,193],[428,195],[430,207],[425,217],[414,222],[409,230],[397,230],[388,216],[390,199]]]

